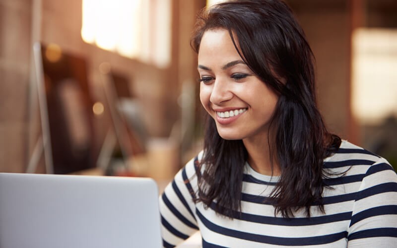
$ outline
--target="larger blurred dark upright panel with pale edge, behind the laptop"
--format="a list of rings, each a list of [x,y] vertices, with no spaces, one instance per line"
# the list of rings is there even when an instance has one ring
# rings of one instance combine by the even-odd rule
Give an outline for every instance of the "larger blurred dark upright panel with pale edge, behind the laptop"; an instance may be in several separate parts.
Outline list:
[[[26,172],[34,173],[44,152],[46,172],[68,174],[94,168],[93,100],[87,63],[56,44],[34,45],[42,136]]]

